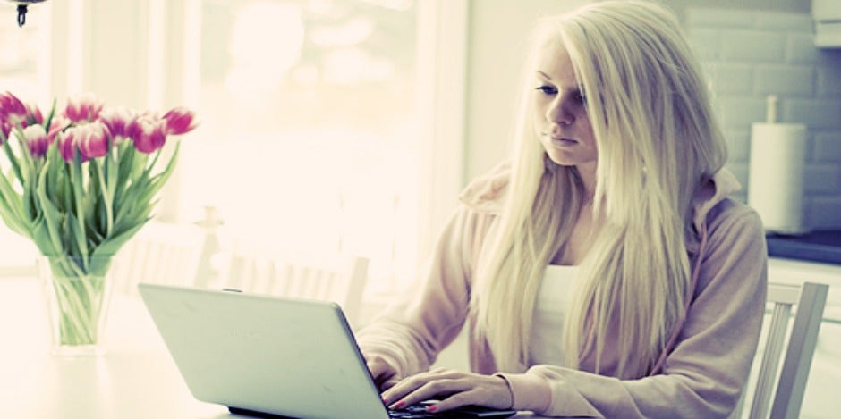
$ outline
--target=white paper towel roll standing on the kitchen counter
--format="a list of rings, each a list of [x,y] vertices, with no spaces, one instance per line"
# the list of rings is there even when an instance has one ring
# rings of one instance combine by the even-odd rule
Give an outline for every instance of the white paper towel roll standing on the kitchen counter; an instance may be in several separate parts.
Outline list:
[[[805,125],[752,125],[748,205],[760,214],[767,231],[806,232],[803,225],[805,152]]]

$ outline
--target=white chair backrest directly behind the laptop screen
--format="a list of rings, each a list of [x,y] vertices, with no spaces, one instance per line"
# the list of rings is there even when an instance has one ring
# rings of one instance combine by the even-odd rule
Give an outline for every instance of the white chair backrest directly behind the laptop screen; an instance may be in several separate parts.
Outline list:
[[[337,256],[322,264],[234,253],[224,286],[278,297],[333,301],[342,306],[353,325],[368,281],[368,264],[369,259],[362,256]]]

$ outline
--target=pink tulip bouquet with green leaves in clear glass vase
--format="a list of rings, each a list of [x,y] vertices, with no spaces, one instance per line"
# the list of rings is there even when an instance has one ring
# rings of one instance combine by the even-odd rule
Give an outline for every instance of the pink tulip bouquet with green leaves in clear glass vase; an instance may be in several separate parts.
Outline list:
[[[195,128],[194,114],[81,96],[45,116],[6,92],[0,128],[0,216],[49,260],[56,343],[96,344],[112,258],[149,221],[178,154],[176,143],[166,161],[162,147]]]

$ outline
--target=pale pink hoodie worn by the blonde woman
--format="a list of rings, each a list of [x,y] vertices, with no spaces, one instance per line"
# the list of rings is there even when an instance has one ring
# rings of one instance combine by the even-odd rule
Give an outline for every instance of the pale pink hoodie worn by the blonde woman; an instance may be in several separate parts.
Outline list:
[[[474,180],[462,193],[425,275],[404,299],[358,334],[366,356],[382,356],[399,377],[426,371],[465,323],[475,256],[497,220],[508,165]],[[739,185],[726,171],[695,198],[694,226],[701,246],[690,247],[694,293],[673,345],[655,374],[635,380],[615,377],[618,353],[610,342],[581,369],[522,365],[502,373],[514,393],[514,408],[548,416],[727,417],[734,409],[756,353],[765,307],[767,254],[759,216],[727,196]],[[704,235],[706,233],[706,235]],[[697,264],[700,259],[701,264]],[[471,370],[497,373],[487,342],[470,334]]]

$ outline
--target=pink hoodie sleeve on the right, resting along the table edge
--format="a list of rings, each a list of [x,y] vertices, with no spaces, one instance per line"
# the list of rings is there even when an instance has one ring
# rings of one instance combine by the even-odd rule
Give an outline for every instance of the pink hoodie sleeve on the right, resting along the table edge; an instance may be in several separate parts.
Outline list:
[[[731,203],[710,220],[708,246],[686,323],[662,373],[619,380],[535,365],[500,374],[511,385],[514,408],[549,416],[730,415],[750,373],[764,314],[767,253],[759,216]]]

